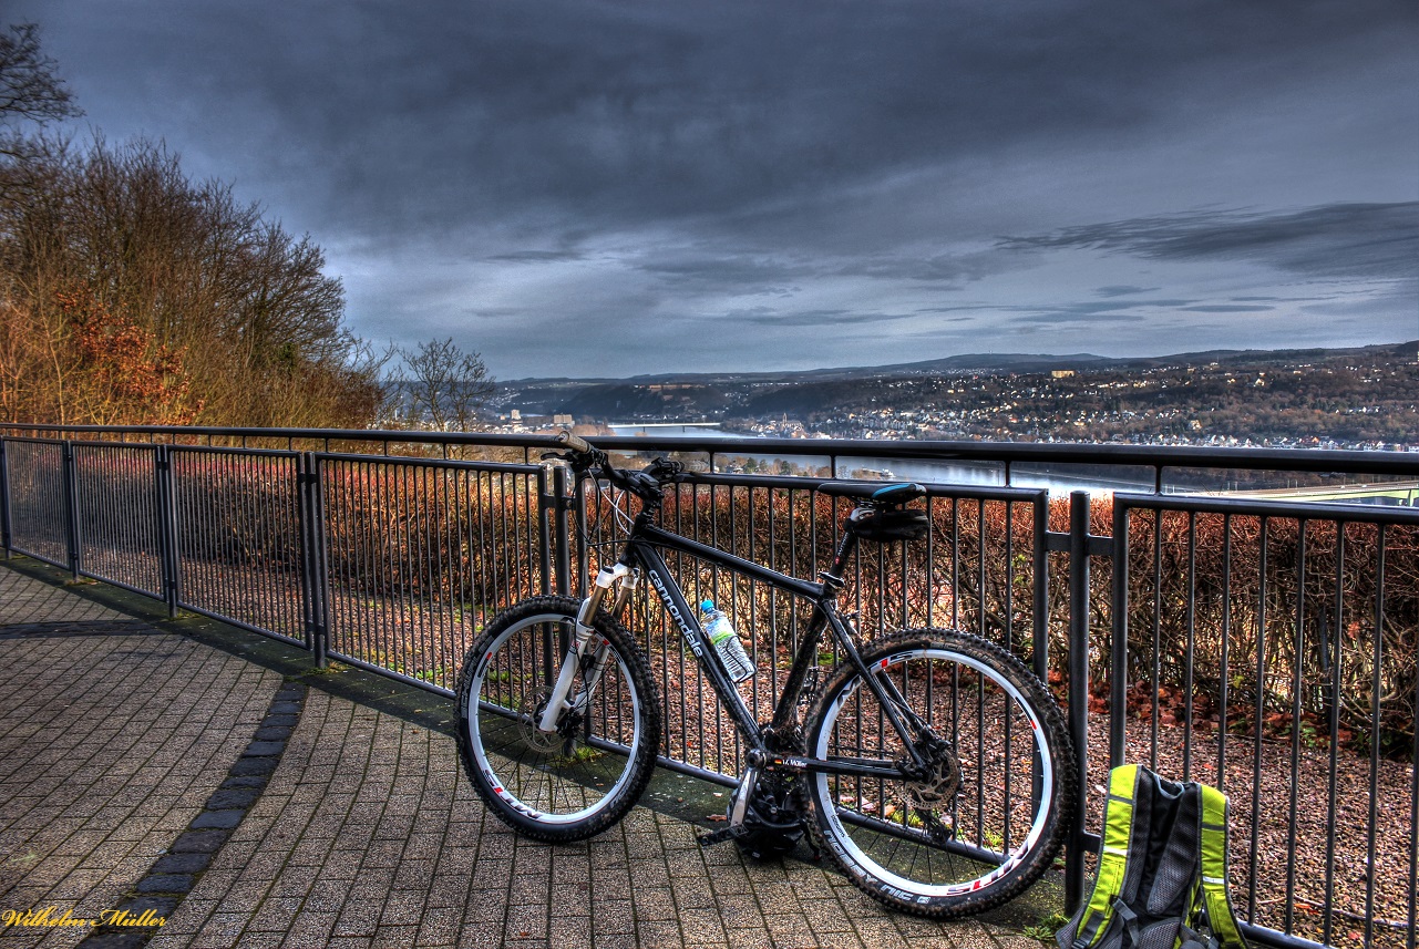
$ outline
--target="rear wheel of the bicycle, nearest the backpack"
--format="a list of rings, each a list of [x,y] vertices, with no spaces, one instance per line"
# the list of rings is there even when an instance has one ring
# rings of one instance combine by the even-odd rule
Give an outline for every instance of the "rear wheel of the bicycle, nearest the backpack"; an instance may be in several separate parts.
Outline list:
[[[1049,868],[1074,810],[1074,750],[1049,689],[1016,657],[959,631],[907,630],[861,657],[897,718],[931,726],[932,738],[915,742],[927,767],[815,773],[815,837],[858,888],[897,909],[949,918],[1016,897]],[[888,709],[847,664],[809,714],[807,752],[844,765],[911,760]]]

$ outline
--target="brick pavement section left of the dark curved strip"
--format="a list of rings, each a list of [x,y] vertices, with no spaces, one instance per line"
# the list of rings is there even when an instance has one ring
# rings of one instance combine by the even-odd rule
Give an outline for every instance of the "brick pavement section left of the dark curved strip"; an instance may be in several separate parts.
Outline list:
[[[0,912],[111,909],[226,777],[278,685],[0,567]],[[0,929],[16,948],[82,935]]]

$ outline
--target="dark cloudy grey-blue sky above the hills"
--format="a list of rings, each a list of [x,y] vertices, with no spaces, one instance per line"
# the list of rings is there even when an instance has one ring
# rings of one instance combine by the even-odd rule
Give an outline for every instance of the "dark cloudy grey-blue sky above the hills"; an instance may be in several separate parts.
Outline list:
[[[502,379],[1419,338],[1412,0],[4,0]]]

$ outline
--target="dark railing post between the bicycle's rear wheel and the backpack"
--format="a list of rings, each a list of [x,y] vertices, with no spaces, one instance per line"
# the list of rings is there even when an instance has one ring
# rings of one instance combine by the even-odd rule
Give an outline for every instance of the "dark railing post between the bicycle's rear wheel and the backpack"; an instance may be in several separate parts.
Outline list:
[[[1064,860],[1064,912],[1073,915],[1084,898],[1084,817],[1088,803],[1088,492],[1069,498],[1069,731],[1078,763],[1078,813]]]

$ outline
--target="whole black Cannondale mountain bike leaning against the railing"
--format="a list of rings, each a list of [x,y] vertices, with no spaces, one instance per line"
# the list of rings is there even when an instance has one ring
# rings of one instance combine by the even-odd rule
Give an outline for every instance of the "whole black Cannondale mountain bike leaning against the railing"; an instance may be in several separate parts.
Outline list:
[[[661,526],[667,487],[695,478],[680,464],[616,468],[582,438],[559,441],[565,451],[548,457],[624,492],[639,511],[623,512],[620,553],[589,596],[508,607],[464,660],[458,748],[494,814],[529,837],[573,841],[636,804],[657,760],[661,705],[651,662],[619,617],[648,583],[742,736],[725,826],[702,843],[782,853],[806,830],[815,851],[832,854],[868,895],[934,918],[999,905],[1050,867],[1076,804],[1076,757],[1046,685],[1013,654],[956,630],[898,630],[858,644],[854,616],[837,606],[860,543],[929,531],[927,512],[908,506],[925,488],[816,485],[856,499],[856,509],[830,566],[809,582]],[[756,722],[739,695],[667,550],[812,604],[769,722]],[[826,674],[824,636],[843,657]]]

